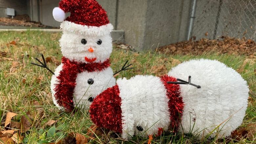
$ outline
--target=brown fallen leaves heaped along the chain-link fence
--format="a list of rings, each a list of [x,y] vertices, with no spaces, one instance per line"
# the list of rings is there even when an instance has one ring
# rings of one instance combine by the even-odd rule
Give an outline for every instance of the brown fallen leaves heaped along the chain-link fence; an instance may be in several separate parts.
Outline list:
[[[246,55],[256,58],[256,44],[251,39],[236,39],[233,37],[221,37],[217,40],[201,39],[199,41],[184,41],[160,47],[161,53],[167,54],[194,54],[199,55],[205,52],[214,51],[220,54]]]

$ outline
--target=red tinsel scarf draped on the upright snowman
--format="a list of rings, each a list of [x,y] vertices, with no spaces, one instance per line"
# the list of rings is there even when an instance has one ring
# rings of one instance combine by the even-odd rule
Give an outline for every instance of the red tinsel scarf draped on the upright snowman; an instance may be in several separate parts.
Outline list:
[[[73,93],[76,86],[76,77],[81,72],[102,71],[110,67],[110,60],[103,63],[79,63],[62,57],[62,70],[57,76],[58,84],[55,85],[55,98],[57,103],[64,107],[66,111],[71,112],[74,109]]]

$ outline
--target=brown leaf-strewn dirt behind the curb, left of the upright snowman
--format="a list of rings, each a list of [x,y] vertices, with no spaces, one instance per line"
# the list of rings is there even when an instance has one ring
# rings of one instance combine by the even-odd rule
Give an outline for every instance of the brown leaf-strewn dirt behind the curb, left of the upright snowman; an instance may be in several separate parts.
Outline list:
[[[7,17],[0,17],[0,25],[2,26],[23,26],[23,27],[40,27],[40,28],[53,28],[42,25],[39,22],[30,21],[30,17],[26,14],[17,15],[13,19]]]

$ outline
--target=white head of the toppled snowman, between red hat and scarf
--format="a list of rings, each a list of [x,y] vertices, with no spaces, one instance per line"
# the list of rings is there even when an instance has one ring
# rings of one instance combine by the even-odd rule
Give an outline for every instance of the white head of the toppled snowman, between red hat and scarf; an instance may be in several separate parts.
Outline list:
[[[136,75],[131,79],[118,79],[122,99],[122,137],[134,134],[147,136],[157,134],[158,128],[168,129],[170,118],[166,89],[159,77]],[[138,131],[141,126],[143,131]]]

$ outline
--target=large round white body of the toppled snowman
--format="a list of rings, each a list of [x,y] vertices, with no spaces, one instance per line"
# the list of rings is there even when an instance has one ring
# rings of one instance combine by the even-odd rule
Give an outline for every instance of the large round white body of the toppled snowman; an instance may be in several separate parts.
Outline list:
[[[217,60],[190,60],[173,68],[169,76],[191,85],[180,85],[184,110],[180,131],[200,138],[229,136],[245,116],[248,86],[242,76]]]

